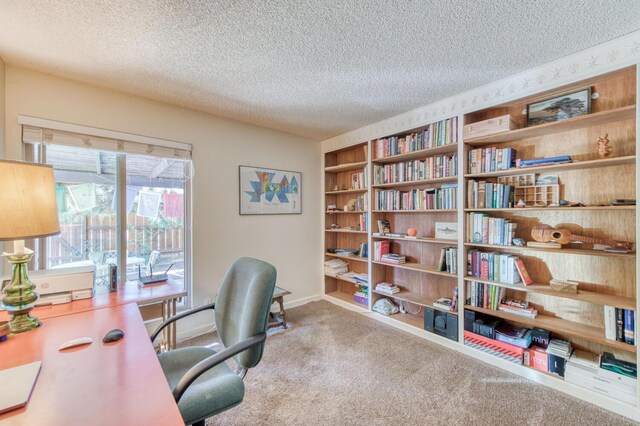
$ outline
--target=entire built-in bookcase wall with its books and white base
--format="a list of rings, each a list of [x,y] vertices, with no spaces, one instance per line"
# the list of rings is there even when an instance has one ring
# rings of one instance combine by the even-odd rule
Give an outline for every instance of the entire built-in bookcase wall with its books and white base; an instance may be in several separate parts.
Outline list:
[[[338,228],[326,231],[325,245],[357,248],[368,238],[368,259],[345,262],[370,274],[370,307],[388,298],[402,308],[389,320],[374,318],[430,338],[425,309],[464,316],[454,348],[640,420],[638,218],[634,203],[614,202],[638,195],[637,78],[635,67],[620,69],[456,117],[466,127],[509,115],[517,128],[495,134],[462,138],[451,133],[451,120],[424,128],[442,130],[442,146],[425,147],[431,136],[418,129],[371,141],[374,155],[362,154],[362,145],[326,154],[325,183],[333,188],[347,179],[335,172],[341,162],[369,166],[366,232],[340,233],[359,219],[336,213],[325,222]],[[584,113],[549,106],[534,117],[546,120],[538,124],[522,113],[585,88],[598,96],[572,104]],[[434,164],[447,169],[427,178],[416,172]],[[415,198],[443,200],[446,191],[455,204]],[[325,198],[340,204],[347,197]],[[439,210],[407,210],[416,206]],[[341,281],[327,277],[326,294],[351,297],[354,285]],[[455,295],[457,309],[434,306]]]

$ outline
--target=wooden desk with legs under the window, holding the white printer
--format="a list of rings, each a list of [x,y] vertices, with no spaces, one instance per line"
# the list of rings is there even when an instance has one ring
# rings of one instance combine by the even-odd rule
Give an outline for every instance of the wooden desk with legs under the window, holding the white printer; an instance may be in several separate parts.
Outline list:
[[[176,314],[176,303],[187,295],[182,284],[169,279],[163,283],[140,285],[137,281],[127,281],[118,286],[118,291],[109,293],[105,288],[100,288],[91,299],[74,300],[60,305],[38,306],[32,311],[32,315],[40,320],[49,320],[60,316],[88,312],[96,309],[137,303],[148,305],[152,303],[162,304],[162,319],[166,320]],[[0,312],[0,321],[9,321],[6,311]],[[30,332],[28,332],[30,333]],[[165,328],[162,334],[162,351],[175,349],[176,324]]]

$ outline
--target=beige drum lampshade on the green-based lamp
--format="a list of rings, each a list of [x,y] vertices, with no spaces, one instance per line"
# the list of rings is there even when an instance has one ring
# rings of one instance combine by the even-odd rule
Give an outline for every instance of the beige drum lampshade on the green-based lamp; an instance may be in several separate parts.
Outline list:
[[[53,168],[0,160],[0,241],[59,233]]]

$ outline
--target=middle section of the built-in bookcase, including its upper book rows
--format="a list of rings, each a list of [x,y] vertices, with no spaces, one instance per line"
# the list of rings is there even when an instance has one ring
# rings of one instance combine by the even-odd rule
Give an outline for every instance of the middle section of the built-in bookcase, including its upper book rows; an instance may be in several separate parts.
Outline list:
[[[382,191],[394,190],[437,192],[443,186],[457,186],[458,182],[458,118],[432,123],[399,135],[376,139],[372,150],[372,297],[373,302],[386,297],[403,307],[405,313],[392,318],[399,319],[419,329],[424,329],[424,310],[436,309],[433,302],[441,297],[452,298],[458,274],[438,270],[441,250],[455,246],[457,241],[435,238],[436,222],[457,222],[457,196],[448,205],[433,208],[398,209],[382,208],[379,196]],[[445,129],[434,139],[436,129]],[[415,135],[424,136],[420,141]],[[429,136],[427,136],[429,135]],[[397,138],[397,139],[396,139]],[[418,149],[411,146],[416,142]],[[403,146],[403,144],[405,144]],[[422,144],[422,147],[419,145]],[[391,152],[391,155],[389,153]],[[418,172],[416,172],[418,171]],[[395,172],[395,173],[394,173]],[[386,220],[394,233],[406,234],[409,228],[417,230],[416,239],[376,235],[378,221]],[[404,255],[403,264],[389,264],[374,260],[376,244],[387,241],[390,252]],[[392,283],[402,289],[388,295],[375,290],[379,283]]]

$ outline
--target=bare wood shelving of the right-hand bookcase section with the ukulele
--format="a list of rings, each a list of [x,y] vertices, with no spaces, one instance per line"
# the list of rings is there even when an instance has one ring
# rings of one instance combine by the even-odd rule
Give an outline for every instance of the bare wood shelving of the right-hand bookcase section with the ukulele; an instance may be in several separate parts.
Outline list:
[[[527,116],[521,112],[527,104],[540,100],[539,96],[520,99],[504,105],[466,114],[464,123],[475,123],[488,118],[510,114],[518,129],[491,136],[465,138],[464,152],[495,146],[513,148],[516,158],[536,159],[569,155],[571,163],[528,168],[511,168],[482,173],[465,172],[464,180],[496,182],[500,177],[535,174],[557,176],[560,199],[579,207],[533,206],[526,208],[475,208],[465,206],[465,216],[482,212],[490,217],[504,218],[517,223],[516,237],[532,241],[531,230],[545,224],[555,228],[571,229],[573,234],[620,241],[636,241],[635,206],[612,206],[616,198],[636,198],[636,75],[627,69],[559,88],[555,93],[569,93],[590,87],[598,93],[591,100],[589,114],[575,118],[534,126],[527,126]],[[553,97],[544,94],[544,98]],[[543,99],[544,99],[543,98]],[[612,153],[602,157],[597,140],[608,134]],[[461,155],[462,156],[462,155]],[[467,156],[465,156],[467,157]],[[465,158],[465,171],[471,161]],[[468,199],[465,194],[465,200]],[[517,202],[518,200],[514,200]],[[466,217],[465,217],[466,219]],[[469,224],[466,223],[465,226]],[[467,229],[467,228],[465,228]],[[535,319],[466,305],[483,314],[503,321],[540,327],[552,332],[555,338],[571,342],[575,348],[600,354],[603,351],[635,362],[636,346],[605,339],[603,305],[621,309],[636,309],[636,254],[609,253],[574,245],[561,249],[545,247],[499,246],[469,241],[465,234],[464,254],[468,250],[504,252],[523,260],[534,280],[530,286],[510,285],[465,277],[464,294],[470,282],[496,285],[506,289],[506,296],[529,302],[538,310]],[[575,280],[581,283],[578,293],[560,293],[548,285],[550,279]]]

